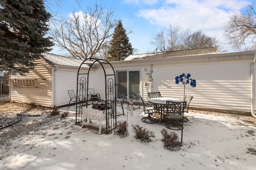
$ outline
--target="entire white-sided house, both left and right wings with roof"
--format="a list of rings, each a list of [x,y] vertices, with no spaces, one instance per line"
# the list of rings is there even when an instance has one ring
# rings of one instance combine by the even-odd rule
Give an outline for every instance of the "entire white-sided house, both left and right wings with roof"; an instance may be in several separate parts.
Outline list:
[[[191,52],[191,51],[189,51]],[[180,74],[191,74],[196,87],[185,86],[185,94],[194,96],[190,108],[219,110],[226,113],[254,115],[256,107],[256,51],[196,54],[151,53],[130,55],[125,61],[111,62],[116,71],[116,90],[138,90],[147,100],[148,92],[159,91],[162,96],[182,99],[184,86],[175,83]],[[10,86],[10,100],[42,106],[68,104],[68,90],[76,91],[78,67],[82,60],[45,54],[26,77],[11,76],[11,79],[38,79],[38,87]],[[88,68],[84,68],[88,69]],[[110,66],[105,68],[110,72]],[[126,76],[118,77],[118,72]],[[132,73],[132,74],[130,74]],[[135,74],[134,74],[135,73]],[[150,74],[152,79],[148,79]],[[121,75],[121,74],[120,74]],[[122,74],[124,75],[124,74]],[[136,76],[136,78],[132,76]],[[137,77],[138,76],[138,77]],[[122,82],[118,82],[119,79]],[[104,96],[104,72],[100,64],[90,71],[89,88]]]

